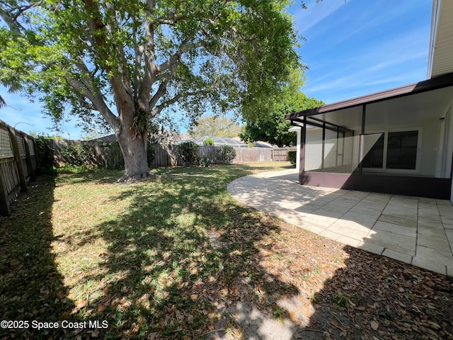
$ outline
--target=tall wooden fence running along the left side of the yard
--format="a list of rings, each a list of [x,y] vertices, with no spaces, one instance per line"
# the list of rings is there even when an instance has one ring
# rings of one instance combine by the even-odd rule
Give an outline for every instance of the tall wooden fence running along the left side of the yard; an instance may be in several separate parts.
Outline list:
[[[36,141],[0,120],[0,215],[11,215],[10,205],[35,180]]]

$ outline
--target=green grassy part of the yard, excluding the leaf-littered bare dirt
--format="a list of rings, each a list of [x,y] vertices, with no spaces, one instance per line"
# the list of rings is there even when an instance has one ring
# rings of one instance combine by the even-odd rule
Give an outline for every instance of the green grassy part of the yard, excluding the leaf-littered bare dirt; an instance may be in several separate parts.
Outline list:
[[[12,217],[0,217],[3,319],[108,323],[14,331],[42,339],[202,338],[220,317],[216,305],[237,290],[236,278],[262,281],[257,254],[280,231],[278,220],[236,203],[226,185],[282,168],[289,164],[154,169],[156,179],[130,185],[114,183],[120,171],[41,178]]]

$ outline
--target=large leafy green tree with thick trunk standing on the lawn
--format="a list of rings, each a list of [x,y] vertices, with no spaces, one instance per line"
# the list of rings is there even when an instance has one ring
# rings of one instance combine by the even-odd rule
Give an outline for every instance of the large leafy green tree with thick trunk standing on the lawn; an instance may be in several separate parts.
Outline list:
[[[149,175],[148,122],[171,107],[256,116],[302,67],[287,0],[0,1],[0,81],[113,129],[124,179]]]

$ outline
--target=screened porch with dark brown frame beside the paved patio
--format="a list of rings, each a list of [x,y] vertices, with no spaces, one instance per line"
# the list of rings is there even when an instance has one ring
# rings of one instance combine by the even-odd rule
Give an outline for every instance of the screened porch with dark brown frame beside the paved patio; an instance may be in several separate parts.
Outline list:
[[[452,198],[453,73],[286,116],[299,183]]]

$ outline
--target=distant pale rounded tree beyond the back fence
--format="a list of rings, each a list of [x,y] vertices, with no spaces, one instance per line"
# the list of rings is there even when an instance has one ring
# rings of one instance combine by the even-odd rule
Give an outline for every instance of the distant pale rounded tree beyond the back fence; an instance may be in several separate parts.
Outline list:
[[[241,127],[236,123],[236,120],[210,115],[197,119],[190,128],[189,134],[192,137],[237,137],[240,131]]]

